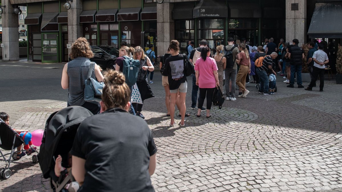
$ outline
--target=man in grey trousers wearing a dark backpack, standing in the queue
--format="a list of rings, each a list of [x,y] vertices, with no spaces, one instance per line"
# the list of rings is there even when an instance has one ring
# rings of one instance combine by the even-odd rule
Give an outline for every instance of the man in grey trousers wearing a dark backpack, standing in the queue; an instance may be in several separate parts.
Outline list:
[[[224,75],[226,78],[225,81],[225,88],[226,88],[226,95],[227,101],[232,100],[235,101],[235,88],[236,88],[236,75],[237,75],[237,64],[236,59],[240,59],[239,49],[234,46],[234,39],[229,37],[228,38],[228,45],[225,46],[226,54],[226,69],[224,70]],[[229,91],[229,81],[232,81],[232,90]]]

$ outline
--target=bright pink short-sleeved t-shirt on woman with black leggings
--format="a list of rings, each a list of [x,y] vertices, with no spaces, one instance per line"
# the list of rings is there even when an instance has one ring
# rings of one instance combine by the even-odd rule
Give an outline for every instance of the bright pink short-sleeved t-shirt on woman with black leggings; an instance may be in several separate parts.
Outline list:
[[[198,86],[200,88],[216,87],[214,71],[218,70],[215,59],[207,57],[204,61],[202,57],[196,60],[195,70],[199,72]]]

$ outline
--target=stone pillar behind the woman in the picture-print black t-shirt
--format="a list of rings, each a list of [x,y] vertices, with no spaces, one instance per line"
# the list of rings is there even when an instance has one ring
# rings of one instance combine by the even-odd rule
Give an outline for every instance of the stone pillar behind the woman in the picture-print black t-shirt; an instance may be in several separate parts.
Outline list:
[[[170,0],[164,0],[163,3],[157,4],[157,55],[164,55],[170,41],[174,39],[174,21],[171,16],[173,4]]]

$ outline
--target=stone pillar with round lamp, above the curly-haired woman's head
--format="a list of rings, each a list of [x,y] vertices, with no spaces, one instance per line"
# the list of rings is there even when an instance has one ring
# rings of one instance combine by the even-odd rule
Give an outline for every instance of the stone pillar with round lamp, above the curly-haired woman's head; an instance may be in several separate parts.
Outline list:
[[[74,0],[68,10],[68,43],[72,44],[83,36],[83,25],[79,23],[79,16],[83,10],[82,0]],[[70,53],[70,49],[69,49]]]

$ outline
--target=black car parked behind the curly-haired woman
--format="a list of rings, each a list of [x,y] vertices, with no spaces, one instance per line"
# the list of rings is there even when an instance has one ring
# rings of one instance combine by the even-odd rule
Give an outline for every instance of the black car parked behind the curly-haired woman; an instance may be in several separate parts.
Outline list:
[[[115,60],[119,56],[119,50],[110,45],[91,45],[94,57],[90,60],[100,65],[102,69],[114,69]]]

